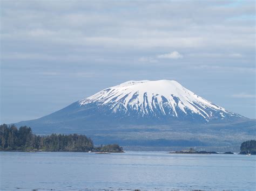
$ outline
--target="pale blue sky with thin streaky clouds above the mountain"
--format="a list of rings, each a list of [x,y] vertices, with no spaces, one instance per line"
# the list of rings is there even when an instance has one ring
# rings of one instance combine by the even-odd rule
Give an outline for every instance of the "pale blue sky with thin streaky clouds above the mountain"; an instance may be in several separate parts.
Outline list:
[[[255,1],[1,1],[0,123],[129,80],[255,117]]]

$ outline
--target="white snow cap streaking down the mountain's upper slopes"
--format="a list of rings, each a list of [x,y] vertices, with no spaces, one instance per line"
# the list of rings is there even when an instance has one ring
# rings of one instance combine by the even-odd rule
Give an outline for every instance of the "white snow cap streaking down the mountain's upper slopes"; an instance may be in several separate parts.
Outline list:
[[[201,118],[204,121],[244,118],[184,88],[177,81],[127,81],[79,101],[80,107],[96,104],[112,114],[137,117]]]

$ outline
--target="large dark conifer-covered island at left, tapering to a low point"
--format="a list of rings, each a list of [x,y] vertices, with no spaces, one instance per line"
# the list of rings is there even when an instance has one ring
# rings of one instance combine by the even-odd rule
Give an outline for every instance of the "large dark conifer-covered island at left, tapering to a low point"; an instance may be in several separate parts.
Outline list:
[[[123,152],[117,144],[96,147],[85,135],[52,134],[39,136],[31,128],[0,125],[0,151],[70,151],[70,152]]]

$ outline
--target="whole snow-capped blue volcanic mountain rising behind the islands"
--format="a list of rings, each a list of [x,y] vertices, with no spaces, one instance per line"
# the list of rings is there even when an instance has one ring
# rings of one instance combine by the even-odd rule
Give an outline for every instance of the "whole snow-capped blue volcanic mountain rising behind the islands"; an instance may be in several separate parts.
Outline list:
[[[255,129],[254,122],[205,100],[177,81],[143,80],[106,88],[53,114],[17,125],[31,126],[37,133],[85,133],[98,143],[111,139],[135,146],[177,146],[177,141],[208,146],[207,141],[199,141],[199,132],[213,140],[217,128],[231,127],[230,135]]]

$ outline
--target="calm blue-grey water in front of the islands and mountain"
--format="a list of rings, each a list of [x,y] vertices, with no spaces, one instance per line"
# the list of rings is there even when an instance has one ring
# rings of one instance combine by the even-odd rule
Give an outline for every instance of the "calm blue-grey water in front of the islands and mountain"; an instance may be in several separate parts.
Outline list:
[[[256,190],[255,156],[0,152],[1,190]]]

